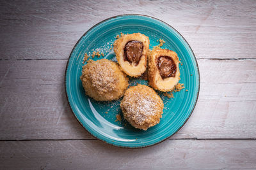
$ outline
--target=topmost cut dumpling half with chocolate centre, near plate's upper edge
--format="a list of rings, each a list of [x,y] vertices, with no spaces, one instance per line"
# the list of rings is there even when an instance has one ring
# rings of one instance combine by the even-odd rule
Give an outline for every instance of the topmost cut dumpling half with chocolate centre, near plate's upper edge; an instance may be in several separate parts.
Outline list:
[[[126,34],[114,43],[116,60],[122,71],[129,76],[138,77],[147,68],[149,39],[144,34]]]

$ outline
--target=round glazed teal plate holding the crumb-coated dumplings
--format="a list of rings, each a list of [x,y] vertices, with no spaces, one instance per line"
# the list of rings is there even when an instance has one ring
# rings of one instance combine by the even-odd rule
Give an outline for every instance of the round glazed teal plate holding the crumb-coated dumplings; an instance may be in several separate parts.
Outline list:
[[[184,83],[185,89],[175,92],[171,99],[158,92],[164,102],[163,117],[159,124],[147,131],[135,129],[124,120],[119,106],[121,99],[111,102],[94,101],[85,95],[80,80],[84,53],[100,51],[104,53],[104,57],[94,57],[93,60],[106,58],[116,61],[115,53],[110,48],[115,36],[121,32],[145,34],[150,39],[150,49],[159,44],[157,39],[164,39],[166,43],[162,48],[175,51],[182,62],[182,66],[179,66],[180,83]],[[147,85],[147,81],[134,78],[130,78],[129,83]],[[140,148],[169,138],[185,124],[195,108],[200,76],[193,51],[173,27],[153,17],[120,15],[93,26],[79,39],[68,59],[65,86],[74,115],[90,134],[111,145]],[[116,121],[117,114],[121,115],[121,121]]]

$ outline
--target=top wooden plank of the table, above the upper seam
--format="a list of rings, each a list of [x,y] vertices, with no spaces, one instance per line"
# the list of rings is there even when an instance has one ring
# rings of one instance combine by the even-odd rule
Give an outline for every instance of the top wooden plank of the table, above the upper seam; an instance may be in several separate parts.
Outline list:
[[[1,59],[67,59],[92,25],[140,13],[175,27],[197,58],[256,58],[255,9],[255,1],[1,1],[0,54]]]

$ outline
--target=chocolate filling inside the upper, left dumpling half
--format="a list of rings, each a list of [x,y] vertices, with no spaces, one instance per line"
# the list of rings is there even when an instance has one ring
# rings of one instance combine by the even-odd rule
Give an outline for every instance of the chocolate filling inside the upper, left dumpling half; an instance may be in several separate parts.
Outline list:
[[[143,52],[143,43],[141,41],[129,41],[124,47],[124,60],[127,60],[137,66],[140,62],[140,58]]]

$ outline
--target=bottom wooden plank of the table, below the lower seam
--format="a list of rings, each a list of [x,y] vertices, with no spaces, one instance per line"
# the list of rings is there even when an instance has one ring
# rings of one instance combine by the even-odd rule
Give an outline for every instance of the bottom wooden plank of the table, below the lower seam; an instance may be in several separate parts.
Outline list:
[[[166,140],[141,149],[97,140],[1,141],[0,152],[0,169],[256,168],[255,140]]]

